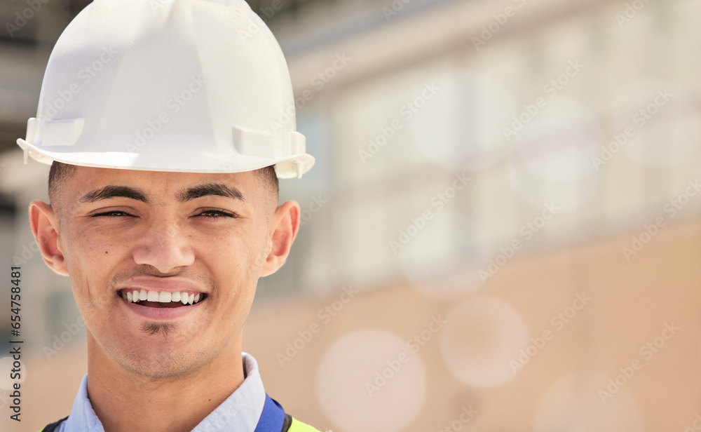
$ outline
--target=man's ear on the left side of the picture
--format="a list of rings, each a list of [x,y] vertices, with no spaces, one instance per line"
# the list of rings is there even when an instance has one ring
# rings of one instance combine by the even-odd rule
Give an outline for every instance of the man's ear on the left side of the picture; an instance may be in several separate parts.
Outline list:
[[[63,255],[58,235],[58,220],[53,207],[43,201],[32,201],[29,204],[29,224],[32,225],[32,234],[46,265],[57,274],[68,276],[68,266]]]

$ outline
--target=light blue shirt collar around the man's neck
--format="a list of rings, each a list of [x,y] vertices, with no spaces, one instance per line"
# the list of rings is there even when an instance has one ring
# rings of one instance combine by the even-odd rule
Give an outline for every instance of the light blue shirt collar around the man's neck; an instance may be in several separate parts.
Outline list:
[[[222,405],[210,412],[192,432],[254,432],[265,405],[265,389],[258,372],[258,363],[248,353],[243,353],[246,379]],[[83,377],[71,415],[56,432],[104,432],[93,405],[88,399],[88,375]]]

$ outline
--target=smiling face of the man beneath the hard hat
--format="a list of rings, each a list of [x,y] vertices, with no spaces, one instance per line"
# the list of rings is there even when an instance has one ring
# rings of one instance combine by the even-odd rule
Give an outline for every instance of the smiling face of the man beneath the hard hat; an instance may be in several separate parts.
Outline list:
[[[144,376],[175,377],[240,350],[257,280],[287,255],[271,262],[283,207],[271,195],[252,172],[78,167],[53,208],[57,266],[102,352]]]

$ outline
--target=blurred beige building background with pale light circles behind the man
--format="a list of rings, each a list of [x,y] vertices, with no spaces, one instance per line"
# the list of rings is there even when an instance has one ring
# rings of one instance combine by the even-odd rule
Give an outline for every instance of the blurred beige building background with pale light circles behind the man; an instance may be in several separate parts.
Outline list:
[[[2,431],[67,415],[86,373],[27,222],[48,167],[15,140],[87,3],[0,1],[0,274],[22,266],[26,372],[21,424],[0,375]],[[304,225],[245,330],[271,396],[335,432],[701,429],[701,2],[249,3],[317,158],[281,183]],[[9,309],[4,290],[2,353]]]

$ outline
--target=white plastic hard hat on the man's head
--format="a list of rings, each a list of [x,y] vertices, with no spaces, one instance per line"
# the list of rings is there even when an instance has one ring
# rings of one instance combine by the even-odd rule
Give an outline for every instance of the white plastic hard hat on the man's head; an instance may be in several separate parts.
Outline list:
[[[95,0],[46,67],[36,161],[194,173],[314,164],[278,42],[243,0]]]

